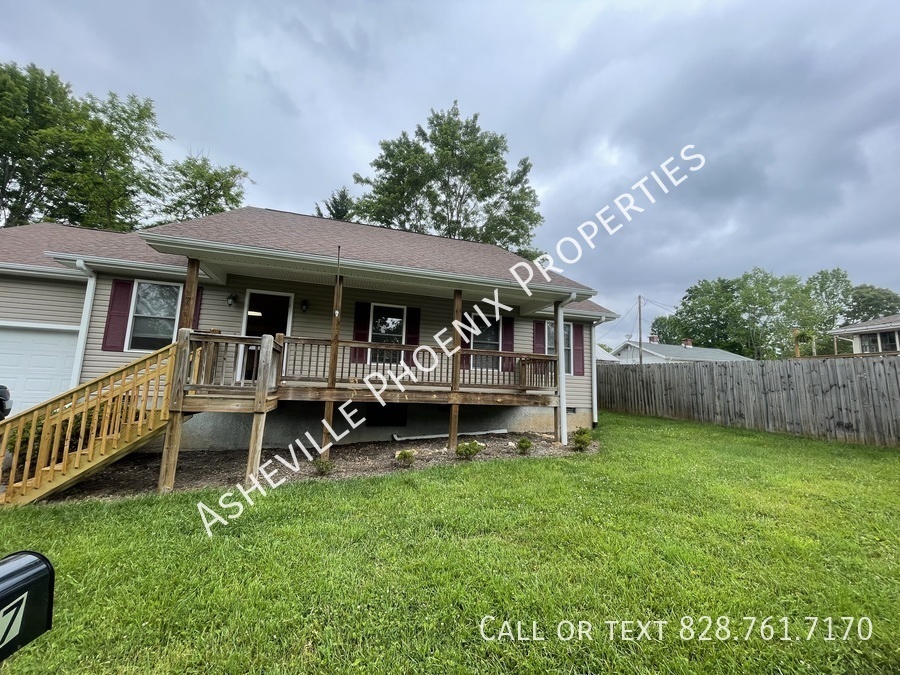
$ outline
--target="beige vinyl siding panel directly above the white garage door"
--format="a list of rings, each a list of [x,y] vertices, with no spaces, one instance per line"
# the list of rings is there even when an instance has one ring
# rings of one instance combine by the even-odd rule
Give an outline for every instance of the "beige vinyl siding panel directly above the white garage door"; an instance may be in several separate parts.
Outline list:
[[[77,326],[84,307],[84,282],[0,276],[0,321]]]

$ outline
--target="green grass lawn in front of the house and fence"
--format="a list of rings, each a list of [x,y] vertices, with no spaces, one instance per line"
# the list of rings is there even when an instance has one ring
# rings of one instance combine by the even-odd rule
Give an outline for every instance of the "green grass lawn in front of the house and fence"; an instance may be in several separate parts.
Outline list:
[[[900,452],[604,414],[599,453],[0,512],[57,569],[17,673],[897,673]],[[684,615],[868,616],[868,641],[682,641]],[[482,640],[531,622],[542,642]],[[606,620],[668,620],[610,641]],[[590,621],[589,641],[556,638]],[[742,632],[742,631],[741,631]]]

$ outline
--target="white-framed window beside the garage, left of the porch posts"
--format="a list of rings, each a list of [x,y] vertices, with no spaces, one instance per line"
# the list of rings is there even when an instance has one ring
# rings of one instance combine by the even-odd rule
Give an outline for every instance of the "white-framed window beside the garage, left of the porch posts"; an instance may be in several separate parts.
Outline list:
[[[138,281],[134,285],[128,349],[154,351],[175,341],[181,284]]]

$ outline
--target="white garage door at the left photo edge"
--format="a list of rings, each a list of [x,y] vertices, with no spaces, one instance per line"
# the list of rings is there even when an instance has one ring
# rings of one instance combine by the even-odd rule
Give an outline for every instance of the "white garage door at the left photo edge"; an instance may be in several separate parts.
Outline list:
[[[0,326],[0,384],[12,393],[13,414],[70,388],[77,340],[77,330]]]

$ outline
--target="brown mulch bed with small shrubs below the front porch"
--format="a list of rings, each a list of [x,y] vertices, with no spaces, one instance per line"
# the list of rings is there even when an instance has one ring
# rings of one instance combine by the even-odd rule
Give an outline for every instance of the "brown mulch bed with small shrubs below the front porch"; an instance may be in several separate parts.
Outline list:
[[[564,457],[573,453],[572,446],[565,447],[553,440],[549,434],[497,434],[489,436],[465,436],[460,441],[477,440],[486,445],[471,461],[483,462],[491,459],[515,459],[518,454],[517,441],[526,437],[532,442],[529,457]],[[595,452],[596,441],[588,449]],[[395,454],[400,450],[412,450],[415,459],[411,468],[400,466]],[[290,460],[284,448],[263,450],[261,463],[281,454]],[[333,469],[327,476],[318,474],[315,467],[306,461],[302,453],[300,471],[296,474],[282,470],[282,477],[288,480],[340,480],[357,476],[381,476],[396,471],[415,471],[431,466],[457,464],[465,461],[447,449],[447,440],[442,438],[421,441],[379,441],[352,443],[331,449]],[[47,501],[67,501],[80,499],[115,499],[135,495],[153,494],[159,479],[160,453],[134,453],[124,457],[109,468],[86,478],[71,488],[47,498]],[[243,482],[247,466],[246,450],[221,450],[205,452],[182,452],[178,456],[178,471],[175,490],[188,491],[206,487],[225,487]]]

